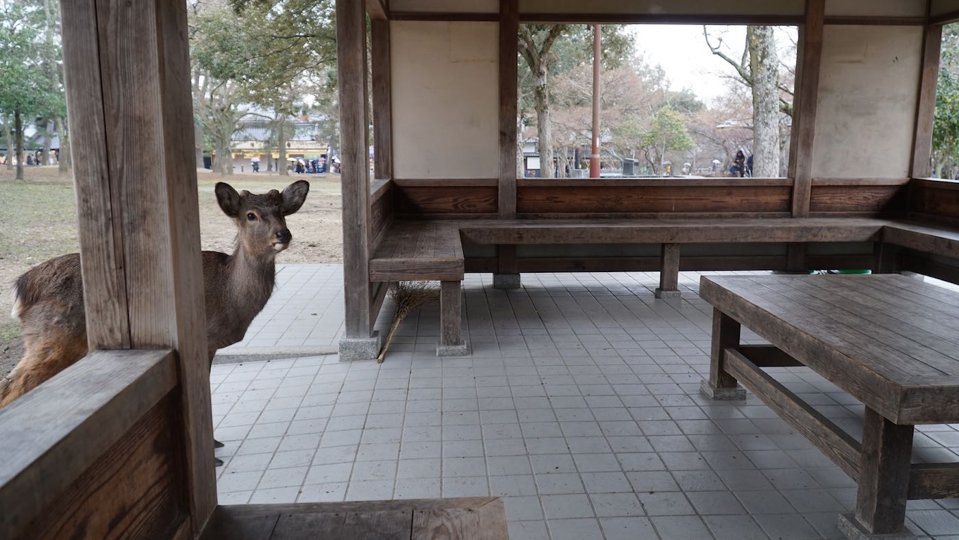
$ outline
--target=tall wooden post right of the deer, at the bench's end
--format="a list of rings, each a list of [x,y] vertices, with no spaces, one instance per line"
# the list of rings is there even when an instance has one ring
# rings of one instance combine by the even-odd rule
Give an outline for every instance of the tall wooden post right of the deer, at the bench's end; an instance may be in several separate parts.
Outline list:
[[[337,1],[339,181],[343,200],[343,287],[347,339],[369,338],[369,178],[366,21],[362,0]]]

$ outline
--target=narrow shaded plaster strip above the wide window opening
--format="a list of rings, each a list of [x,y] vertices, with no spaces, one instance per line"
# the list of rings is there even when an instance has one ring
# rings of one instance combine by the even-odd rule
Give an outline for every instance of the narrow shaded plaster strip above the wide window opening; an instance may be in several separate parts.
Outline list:
[[[521,13],[801,15],[804,0],[520,0]]]

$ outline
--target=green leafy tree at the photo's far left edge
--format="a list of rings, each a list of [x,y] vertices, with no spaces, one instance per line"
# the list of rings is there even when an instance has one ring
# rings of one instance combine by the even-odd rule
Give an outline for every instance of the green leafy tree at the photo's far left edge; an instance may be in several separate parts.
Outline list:
[[[49,109],[55,99],[49,80],[37,65],[35,7],[0,4],[0,113],[13,118],[16,178],[23,179],[24,119]]]

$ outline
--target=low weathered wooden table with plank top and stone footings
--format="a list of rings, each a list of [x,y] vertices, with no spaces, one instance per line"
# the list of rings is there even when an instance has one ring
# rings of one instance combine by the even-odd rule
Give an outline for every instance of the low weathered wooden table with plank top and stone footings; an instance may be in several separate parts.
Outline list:
[[[913,426],[959,422],[959,293],[898,274],[703,277],[703,394],[752,390],[858,482],[847,536],[902,533],[907,499],[959,496],[959,463],[910,465]],[[771,345],[739,343],[740,325]],[[866,406],[862,442],[762,368],[805,365]]]

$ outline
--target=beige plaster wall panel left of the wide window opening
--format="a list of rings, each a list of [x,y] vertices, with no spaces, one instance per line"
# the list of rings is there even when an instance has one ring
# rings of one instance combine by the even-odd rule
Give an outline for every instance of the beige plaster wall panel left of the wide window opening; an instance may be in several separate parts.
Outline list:
[[[393,21],[389,30],[393,175],[498,177],[498,24]]]

